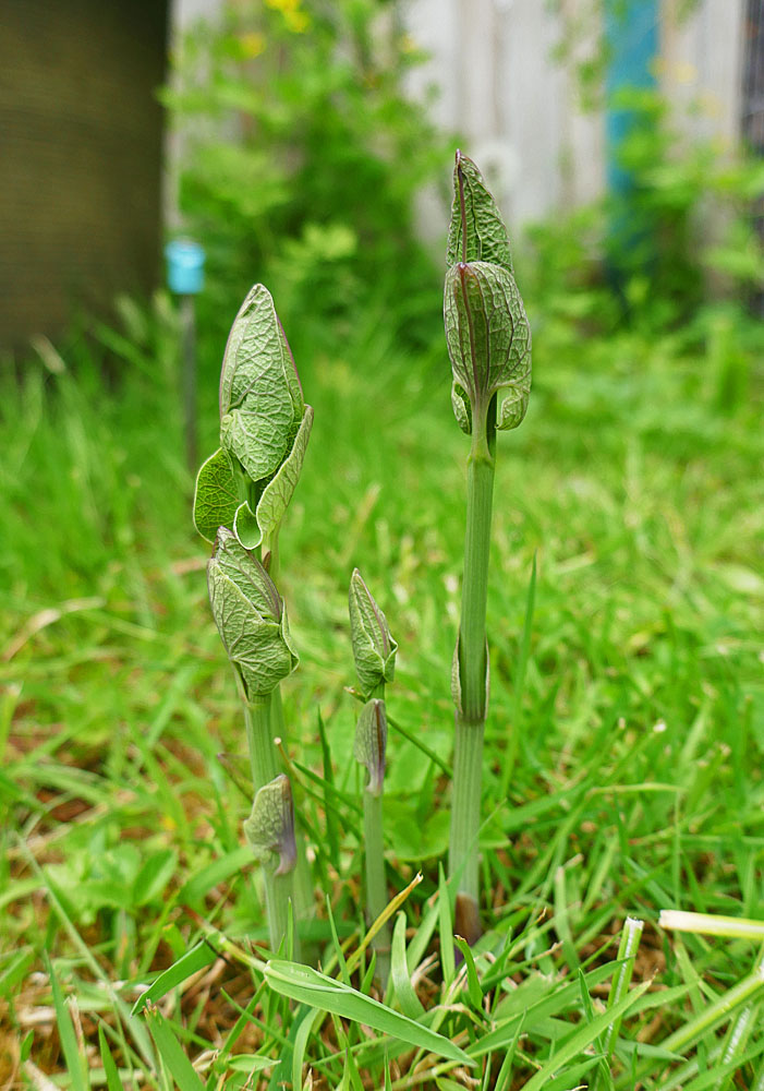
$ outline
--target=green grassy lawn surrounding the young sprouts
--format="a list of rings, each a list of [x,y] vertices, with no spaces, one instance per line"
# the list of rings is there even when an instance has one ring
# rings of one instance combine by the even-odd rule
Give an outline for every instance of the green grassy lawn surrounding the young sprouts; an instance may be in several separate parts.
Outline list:
[[[95,349],[40,345],[21,385],[2,379],[0,1081],[111,1091],[134,1074],[136,1087],[185,1091],[201,1086],[189,1057],[210,1089],[276,1087],[296,1056],[316,1088],[764,1087],[764,980],[747,976],[756,944],[657,925],[662,909],[761,916],[761,336],[745,326],[741,340],[723,305],[702,336],[587,336],[529,302],[530,408],[498,444],[488,931],[461,967],[438,878],[468,445],[448,359],[407,355],[372,321],[330,349],[299,337],[315,427],[280,586],[301,655],[283,687],[284,754],[313,858],[308,938],[353,1004],[378,995],[356,954],[361,778],[345,687],[357,565],[400,645],[390,894],[423,876],[402,903],[408,964],[399,946],[388,1002],[466,1051],[468,1070],[375,1029],[363,1006],[310,1023],[314,1009],[290,1006],[253,956],[266,930],[241,832],[243,726],[191,523],[168,308],[125,304],[122,332],[101,329]],[[206,352],[205,451],[218,368]],[[627,916],[645,924],[605,1065]],[[131,1016],[204,935],[220,957]],[[750,993],[714,1019],[741,981]],[[737,1046],[736,1027],[748,1029]]]

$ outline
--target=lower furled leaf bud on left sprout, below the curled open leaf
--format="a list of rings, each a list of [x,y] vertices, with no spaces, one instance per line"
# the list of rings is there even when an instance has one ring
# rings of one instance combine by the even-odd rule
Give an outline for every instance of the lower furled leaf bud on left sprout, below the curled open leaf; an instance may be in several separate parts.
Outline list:
[[[252,700],[271,693],[298,666],[287,613],[268,573],[226,527],[219,528],[207,564],[207,586],[215,623],[244,697]]]

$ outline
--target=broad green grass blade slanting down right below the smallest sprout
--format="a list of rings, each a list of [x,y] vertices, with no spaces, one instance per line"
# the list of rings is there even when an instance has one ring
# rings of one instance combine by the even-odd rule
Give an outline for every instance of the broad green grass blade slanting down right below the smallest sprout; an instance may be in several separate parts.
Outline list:
[[[364,1023],[380,1034],[389,1034],[401,1042],[427,1050],[449,1060],[474,1064],[463,1050],[441,1034],[436,1034],[428,1027],[392,1011],[371,996],[364,996],[357,990],[327,978],[310,967],[274,959],[266,966],[265,976],[270,987],[282,996],[299,1000],[301,1004],[310,1004],[314,1008],[320,1008],[343,1019]]]

